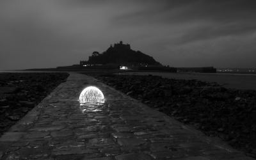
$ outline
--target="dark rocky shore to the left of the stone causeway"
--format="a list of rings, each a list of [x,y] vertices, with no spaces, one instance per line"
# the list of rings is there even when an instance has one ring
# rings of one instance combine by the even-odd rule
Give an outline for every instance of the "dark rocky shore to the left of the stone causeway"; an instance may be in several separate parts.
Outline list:
[[[67,73],[0,74],[0,136],[67,77]]]

